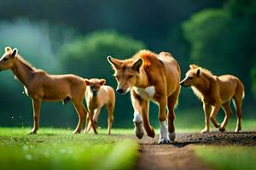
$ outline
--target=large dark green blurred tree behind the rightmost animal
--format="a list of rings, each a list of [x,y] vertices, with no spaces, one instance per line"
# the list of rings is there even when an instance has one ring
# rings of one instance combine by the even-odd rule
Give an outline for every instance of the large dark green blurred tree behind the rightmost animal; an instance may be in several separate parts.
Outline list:
[[[255,17],[255,1],[231,0],[224,8],[205,9],[183,23],[184,37],[191,44],[191,61],[217,75],[239,77],[250,104],[256,78],[252,73],[256,64]]]

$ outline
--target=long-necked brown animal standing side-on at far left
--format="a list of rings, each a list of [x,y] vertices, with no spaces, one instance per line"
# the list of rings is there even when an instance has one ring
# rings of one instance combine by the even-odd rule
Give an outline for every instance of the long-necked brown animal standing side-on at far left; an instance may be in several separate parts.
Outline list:
[[[86,84],[84,78],[75,75],[49,75],[38,70],[23,59],[16,48],[5,48],[0,59],[0,71],[12,70],[24,85],[26,95],[32,98],[34,126],[31,133],[39,128],[40,107],[42,101],[63,101],[67,104],[72,100],[79,115],[79,123],[73,133],[80,133],[87,111],[83,105]],[[93,128],[95,129],[94,123]]]

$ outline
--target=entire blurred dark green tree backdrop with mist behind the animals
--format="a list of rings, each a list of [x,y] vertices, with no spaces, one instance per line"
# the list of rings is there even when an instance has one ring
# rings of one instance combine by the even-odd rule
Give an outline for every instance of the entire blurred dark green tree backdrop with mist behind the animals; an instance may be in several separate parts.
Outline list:
[[[182,78],[189,63],[205,66],[217,75],[241,78],[246,85],[244,108],[255,110],[255,3],[9,0],[0,3],[0,49],[3,54],[5,46],[18,48],[32,65],[50,74],[104,77],[113,88],[116,82],[108,55],[125,59],[142,48],[155,53],[168,51],[181,65]],[[0,87],[0,126],[32,125],[31,100],[22,94],[22,86],[10,71],[0,72]],[[131,127],[130,95],[116,97],[114,126]],[[245,115],[254,115],[253,110]],[[191,120],[200,116],[196,111],[202,111],[201,102],[189,88],[181,90],[177,122],[183,121],[179,120],[183,111],[189,113]],[[150,108],[151,122],[158,124],[157,113],[155,105]],[[107,114],[103,111],[104,115]],[[42,126],[74,127],[77,116],[71,104],[44,103],[40,121]],[[106,117],[102,124],[107,124]]]

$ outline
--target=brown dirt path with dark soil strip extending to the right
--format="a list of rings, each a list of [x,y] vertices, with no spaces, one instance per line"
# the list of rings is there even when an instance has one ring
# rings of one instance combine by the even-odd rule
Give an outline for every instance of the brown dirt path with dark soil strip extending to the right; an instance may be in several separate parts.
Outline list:
[[[253,145],[256,133],[177,133],[177,141],[172,144],[157,144],[158,137],[143,137],[140,142],[141,157],[137,169],[207,170],[211,167],[195,156],[193,144]]]

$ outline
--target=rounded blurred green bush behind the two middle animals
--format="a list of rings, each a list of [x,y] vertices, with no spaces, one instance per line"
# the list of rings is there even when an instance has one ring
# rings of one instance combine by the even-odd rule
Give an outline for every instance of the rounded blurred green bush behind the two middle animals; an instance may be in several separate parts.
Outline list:
[[[64,44],[58,55],[63,71],[81,77],[106,77],[113,80],[107,56],[125,59],[143,48],[146,48],[143,42],[115,31],[95,31]]]

